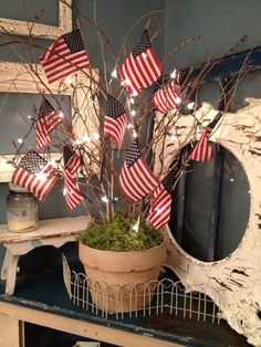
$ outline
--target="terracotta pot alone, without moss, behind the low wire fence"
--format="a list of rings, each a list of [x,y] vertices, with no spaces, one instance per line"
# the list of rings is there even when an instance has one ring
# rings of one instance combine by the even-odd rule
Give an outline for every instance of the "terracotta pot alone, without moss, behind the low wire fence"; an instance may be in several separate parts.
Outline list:
[[[79,257],[88,276],[92,299],[106,312],[130,312],[153,299],[166,241],[145,251],[111,252],[79,245]]]

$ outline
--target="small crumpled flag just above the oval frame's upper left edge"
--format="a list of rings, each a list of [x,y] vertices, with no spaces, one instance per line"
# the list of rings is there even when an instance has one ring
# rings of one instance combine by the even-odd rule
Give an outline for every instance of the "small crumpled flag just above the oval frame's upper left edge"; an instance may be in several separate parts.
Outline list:
[[[180,88],[177,82],[173,80],[159,88],[154,95],[153,103],[160,113],[176,109],[181,103]]]

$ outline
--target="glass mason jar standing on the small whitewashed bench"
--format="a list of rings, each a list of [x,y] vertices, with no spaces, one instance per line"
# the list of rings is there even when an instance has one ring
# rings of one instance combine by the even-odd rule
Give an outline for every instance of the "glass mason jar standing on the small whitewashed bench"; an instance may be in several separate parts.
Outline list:
[[[38,228],[38,200],[25,188],[9,185],[7,197],[8,230],[28,232]]]

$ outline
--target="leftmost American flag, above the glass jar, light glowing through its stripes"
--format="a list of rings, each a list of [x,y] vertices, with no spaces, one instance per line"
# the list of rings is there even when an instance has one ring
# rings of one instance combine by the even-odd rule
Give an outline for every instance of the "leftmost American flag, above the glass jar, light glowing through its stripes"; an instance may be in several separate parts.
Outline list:
[[[12,175],[12,183],[27,188],[43,201],[58,180],[56,170],[34,150],[30,150],[19,162]]]

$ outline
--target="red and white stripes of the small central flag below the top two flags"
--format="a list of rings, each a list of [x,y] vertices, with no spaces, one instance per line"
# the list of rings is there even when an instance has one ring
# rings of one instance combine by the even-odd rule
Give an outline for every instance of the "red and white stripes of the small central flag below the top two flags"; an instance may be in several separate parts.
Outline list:
[[[109,136],[115,141],[117,149],[122,147],[126,125],[127,125],[126,114],[123,114],[116,119],[109,116],[105,116],[104,136]]]

